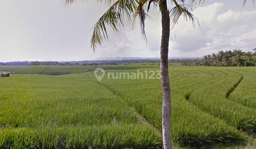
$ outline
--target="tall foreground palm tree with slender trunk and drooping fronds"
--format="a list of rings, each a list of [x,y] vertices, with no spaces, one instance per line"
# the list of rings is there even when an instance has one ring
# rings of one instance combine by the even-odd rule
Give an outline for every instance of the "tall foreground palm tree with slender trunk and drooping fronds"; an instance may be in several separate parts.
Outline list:
[[[79,0],[65,0],[66,4],[72,4]],[[83,1],[83,0],[81,0]],[[91,48],[93,51],[103,44],[106,39],[109,39],[106,26],[111,26],[117,32],[119,27],[123,26],[123,18],[126,16],[129,21],[132,17],[138,17],[143,38],[145,35],[145,19],[148,17],[146,11],[151,7],[159,7],[161,11],[162,37],[160,47],[160,69],[162,82],[162,136],[164,148],[172,148],[170,135],[170,81],[168,73],[168,51],[170,29],[178,23],[180,16],[183,15],[185,20],[190,20],[195,25],[198,22],[197,18],[190,12],[193,6],[202,4],[205,0],[97,0],[110,5],[109,9],[95,23],[91,38]],[[174,7],[169,11],[167,9],[167,1],[174,4]],[[245,4],[246,0],[244,0]],[[145,11],[146,9],[146,11]]]

